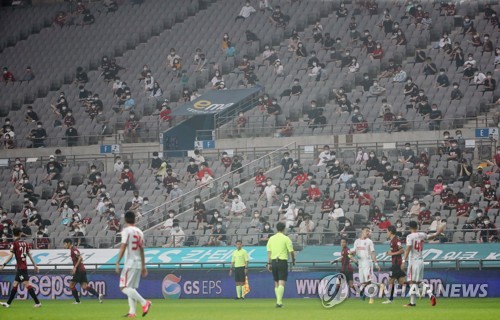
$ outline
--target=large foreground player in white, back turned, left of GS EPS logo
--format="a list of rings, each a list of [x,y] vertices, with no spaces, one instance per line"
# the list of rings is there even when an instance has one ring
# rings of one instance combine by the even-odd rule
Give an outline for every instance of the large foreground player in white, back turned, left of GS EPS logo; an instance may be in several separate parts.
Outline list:
[[[125,265],[120,274],[120,290],[128,296],[129,312],[125,315],[128,318],[135,318],[135,307],[137,302],[142,306],[142,316],[146,316],[151,308],[151,301],[145,300],[138,292],[141,274],[148,275],[148,270],[144,262],[144,235],[135,226],[135,213],[127,211],[125,213],[125,223],[127,224],[121,232],[122,243],[118,259],[116,260],[116,273],[120,273],[120,261],[125,256]]]

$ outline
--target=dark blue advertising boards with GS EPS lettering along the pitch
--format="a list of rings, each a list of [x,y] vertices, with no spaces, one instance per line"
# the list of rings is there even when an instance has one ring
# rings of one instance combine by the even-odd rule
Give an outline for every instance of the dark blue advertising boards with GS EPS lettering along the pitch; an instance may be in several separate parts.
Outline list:
[[[326,292],[327,285],[322,279],[336,271],[291,271],[285,289],[287,298],[317,298],[318,293]],[[125,296],[118,288],[119,276],[112,271],[88,273],[89,283],[107,299],[121,299]],[[375,282],[387,284],[388,272],[375,274]],[[449,298],[493,298],[500,297],[500,277],[498,270],[426,270],[425,282],[438,297]],[[0,299],[8,297],[14,274],[0,277]],[[69,290],[71,275],[66,273],[47,273],[32,275],[31,283],[41,299],[73,299]],[[354,274],[354,282],[358,274]],[[247,298],[274,298],[274,282],[270,272],[265,269],[251,269],[248,275],[250,293]],[[200,299],[233,298],[234,279],[227,270],[152,270],[147,278],[141,280],[139,292],[150,299]],[[396,297],[402,297],[405,288],[398,288]],[[20,299],[28,293],[21,286]],[[378,291],[384,297],[387,287]],[[82,290],[82,296],[89,296]],[[351,297],[359,296],[359,289],[351,290]],[[319,301],[318,301],[319,302]]]

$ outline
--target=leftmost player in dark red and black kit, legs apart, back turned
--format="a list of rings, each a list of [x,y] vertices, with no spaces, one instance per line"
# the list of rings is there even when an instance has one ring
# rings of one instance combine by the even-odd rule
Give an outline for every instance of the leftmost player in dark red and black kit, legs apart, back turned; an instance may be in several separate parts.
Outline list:
[[[26,243],[24,240],[21,240],[21,234],[22,234],[21,230],[16,228],[14,229],[13,234],[14,234],[14,242],[10,246],[10,254],[5,260],[4,264],[0,266],[0,271],[3,270],[3,268],[7,265],[7,263],[9,263],[12,257],[15,256],[17,262],[16,278],[14,279],[12,289],[10,290],[9,300],[7,300],[7,302],[2,302],[0,304],[6,308],[10,307],[12,300],[14,300],[14,297],[17,294],[17,287],[19,286],[19,283],[22,282],[24,287],[28,289],[28,293],[33,298],[33,301],[35,301],[34,307],[39,308],[42,306],[42,304],[40,303],[38,297],[36,296],[35,289],[33,289],[33,287],[31,286],[30,277],[28,275],[28,263],[26,261],[26,257],[30,258],[36,273],[38,273],[38,266],[36,265],[35,260],[33,260],[33,257],[31,256],[29,244]]]

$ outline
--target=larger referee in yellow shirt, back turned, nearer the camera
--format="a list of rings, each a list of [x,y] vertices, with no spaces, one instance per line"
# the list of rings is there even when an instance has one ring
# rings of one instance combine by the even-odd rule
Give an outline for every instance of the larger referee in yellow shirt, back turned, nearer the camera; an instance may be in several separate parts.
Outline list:
[[[292,257],[293,265],[295,265],[295,254],[292,240],[283,233],[285,224],[278,222],[276,230],[278,232],[271,236],[267,242],[267,269],[273,272],[276,308],[281,308],[283,307],[285,283],[288,279],[288,254]]]

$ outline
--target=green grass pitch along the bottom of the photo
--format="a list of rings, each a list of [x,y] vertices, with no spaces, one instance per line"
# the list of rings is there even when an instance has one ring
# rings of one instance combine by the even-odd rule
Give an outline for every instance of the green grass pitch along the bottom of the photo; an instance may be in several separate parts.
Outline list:
[[[382,299],[374,304],[368,300],[348,299],[331,309],[321,306],[319,299],[285,299],[282,309],[275,308],[270,299],[227,299],[153,300],[150,313],[144,319],[182,320],[239,320],[239,319],[499,319],[500,299],[438,299],[431,307],[428,299],[417,300],[417,307],[403,308],[406,299],[396,299],[393,304],[383,305]],[[120,319],[128,312],[127,300],[105,300],[99,304],[94,299],[82,299],[79,305],[72,300],[42,300],[42,307],[33,308],[33,301],[14,301],[10,308],[0,307],[0,319],[77,320],[77,319]],[[142,318],[137,306],[137,318]]]

